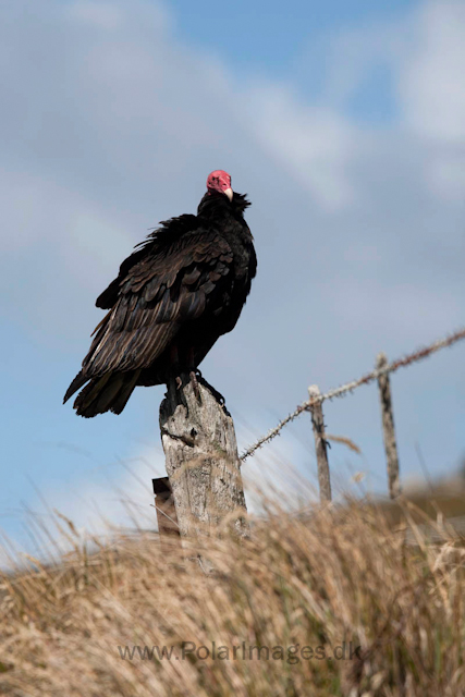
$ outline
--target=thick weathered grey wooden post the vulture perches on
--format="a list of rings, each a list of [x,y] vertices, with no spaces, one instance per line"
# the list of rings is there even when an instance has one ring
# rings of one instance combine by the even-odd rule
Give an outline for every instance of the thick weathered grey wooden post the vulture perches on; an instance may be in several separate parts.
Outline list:
[[[186,375],[170,381],[160,405],[167,473],[182,537],[211,535],[228,518],[230,529],[248,534],[234,424],[205,380],[198,396]]]

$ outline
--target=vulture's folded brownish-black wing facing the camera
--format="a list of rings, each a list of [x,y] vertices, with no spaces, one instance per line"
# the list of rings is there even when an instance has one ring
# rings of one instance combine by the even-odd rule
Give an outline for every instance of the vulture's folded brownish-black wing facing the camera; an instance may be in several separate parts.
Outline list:
[[[96,329],[83,375],[150,366],[184,322],[221,305],[232,261],[224,237],[203,229],[135,252],[97,301],[100,307],[114,305]]]

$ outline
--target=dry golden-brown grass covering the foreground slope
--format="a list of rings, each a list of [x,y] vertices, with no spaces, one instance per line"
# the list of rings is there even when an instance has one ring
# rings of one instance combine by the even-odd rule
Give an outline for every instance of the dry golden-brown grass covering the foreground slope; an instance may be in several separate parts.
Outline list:
[[[253,539],[210,541],[210,576],[148,534],[86,553],[70,524],[75,549],[60,564],[29,560],[2,578],[0,694],[463,695],[465,550],[452,533],[428,545],[405,509],[408,519],[417,546],[376,506],[269,510]],[[183,660],[183,641],[227,649]],[[344,641],[358,657],[329,658]],[[174,649],[121,658],[134,645]],[[266,648],[249,658],[255,645],[269,660]]]

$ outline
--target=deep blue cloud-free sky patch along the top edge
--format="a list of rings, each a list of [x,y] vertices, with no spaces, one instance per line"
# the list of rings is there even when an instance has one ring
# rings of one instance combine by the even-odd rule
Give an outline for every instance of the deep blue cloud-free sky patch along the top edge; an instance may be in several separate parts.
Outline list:
[[[240,0],[233,5],[200,0],[170,4],[176,34],[189,46],[216,52],[234,70],[289,76],[313,42],[338,32],[392,22],[418,7],[415,0]]]

